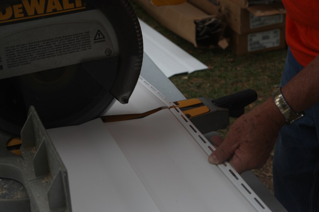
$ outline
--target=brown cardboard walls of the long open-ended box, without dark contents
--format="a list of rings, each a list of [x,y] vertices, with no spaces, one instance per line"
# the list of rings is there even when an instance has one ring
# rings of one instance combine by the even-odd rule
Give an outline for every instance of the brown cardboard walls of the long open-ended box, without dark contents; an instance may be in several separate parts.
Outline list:
[[[215,15],[208,15],[204,11],[198,9],[194,5],[185,2],[176,6],[161,6],[155,7],[149,1],[134,0],[137,2],[149,15],[154,17],[161,25],[167,27],[169,30],[178,34],[182,38],[188,40],[195,47],[198,47],[196,40],[196,24],[197,20],[204,20],[207,18],[216,18]],[[222,31],[225,24],[222,24]],[[223,33],[221,33],[223,34]],[[222,38],[219,38],[222,39]],[[218,43],[217,40],[216,43]],[[213,47],[213,46],[199,46],[199,47]]]

